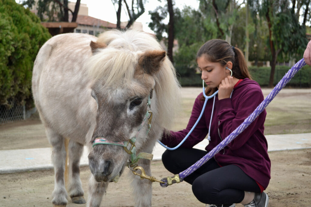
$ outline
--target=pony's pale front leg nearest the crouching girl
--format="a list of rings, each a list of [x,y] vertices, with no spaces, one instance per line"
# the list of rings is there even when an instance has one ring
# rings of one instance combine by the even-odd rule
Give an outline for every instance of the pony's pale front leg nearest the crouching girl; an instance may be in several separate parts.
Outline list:
[[[138,165],[141,166],[146,175],[151,176],[150,170],[150,160],[140,160]],[[140,170],[137,171],[138,174]],[[135,176],[132,181],[133,188],[133,197],[135,200],[135,206],[143,207],[143,206],[151,206],[151,198],[152,198],[152,183],[147,179],[140,179],[139,176],[132,174]]]

